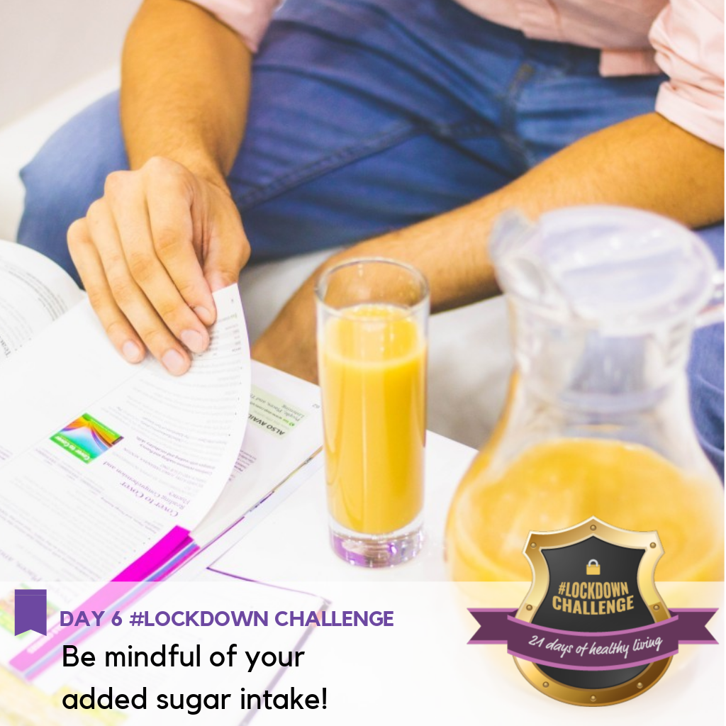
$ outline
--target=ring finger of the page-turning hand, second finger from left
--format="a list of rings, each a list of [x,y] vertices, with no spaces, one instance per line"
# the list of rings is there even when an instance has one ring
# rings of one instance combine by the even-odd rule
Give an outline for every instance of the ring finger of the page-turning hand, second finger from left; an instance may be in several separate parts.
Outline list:
[[[94,202],[86,216],[88,232],[103,265],[115,304],[166,369],[181,375],[189,370],[189,354],[168,330],[159,314],[136,284],[126,264],[110,208],[104,200]]]

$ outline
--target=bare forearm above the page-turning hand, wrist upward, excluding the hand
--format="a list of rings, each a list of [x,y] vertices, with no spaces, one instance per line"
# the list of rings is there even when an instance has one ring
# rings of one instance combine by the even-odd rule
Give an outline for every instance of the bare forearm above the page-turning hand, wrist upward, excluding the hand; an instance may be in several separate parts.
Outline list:
[[[123,48],[121,124],[131,168],[152,156],[219,183],[242,140],[250,52],[195,4],[146,0]]]

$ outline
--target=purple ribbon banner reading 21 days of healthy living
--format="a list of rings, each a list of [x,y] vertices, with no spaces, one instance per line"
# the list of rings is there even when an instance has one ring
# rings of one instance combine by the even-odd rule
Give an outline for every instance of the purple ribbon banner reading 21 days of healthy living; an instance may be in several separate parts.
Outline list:
[[[678,653],[680,644],[717,644],[706,629],[717,609],[672,608],[669,619],[640,628],[574,632],[518,620],[516,608],[469,608],[479,624],[469,645],[506,645],[510,656],[543,666],[611,671],[662,661]]]

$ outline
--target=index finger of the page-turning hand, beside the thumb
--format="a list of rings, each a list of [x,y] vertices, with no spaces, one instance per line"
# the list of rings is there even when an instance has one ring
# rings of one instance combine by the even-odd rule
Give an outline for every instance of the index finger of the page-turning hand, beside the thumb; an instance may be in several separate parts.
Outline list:
[[[189,308],[205,325],[212,325],[216,309],[197,256],[201,250],[195,248],[195,234],[201,237],[202,230],[195,230],[192,219],[193,186],[181,173],[150,176],[146,204],[156,255]]]

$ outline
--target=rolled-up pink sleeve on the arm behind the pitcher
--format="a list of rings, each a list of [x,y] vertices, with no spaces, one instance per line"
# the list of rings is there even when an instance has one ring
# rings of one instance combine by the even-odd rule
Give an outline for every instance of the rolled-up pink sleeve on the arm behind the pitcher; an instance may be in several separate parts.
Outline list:
[[[650,28],[656,62],[669,76],[656,111],[724,147],[723,0],[670,0]]]

